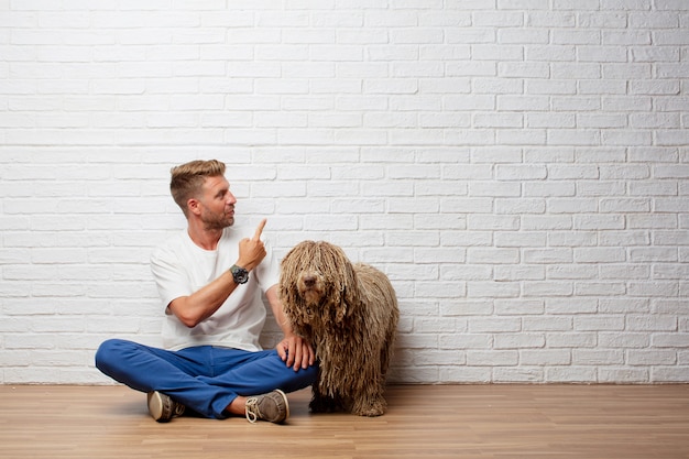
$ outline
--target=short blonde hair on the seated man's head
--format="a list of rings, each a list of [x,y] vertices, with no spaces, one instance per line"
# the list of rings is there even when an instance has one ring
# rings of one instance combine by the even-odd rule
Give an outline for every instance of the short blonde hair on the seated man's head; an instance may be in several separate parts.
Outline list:
[[[187,201],[200,194],[207,177],[225,175],[225,163],[218,160],[196,160],[173,167],[169,172],[169,193],[186,216]]]

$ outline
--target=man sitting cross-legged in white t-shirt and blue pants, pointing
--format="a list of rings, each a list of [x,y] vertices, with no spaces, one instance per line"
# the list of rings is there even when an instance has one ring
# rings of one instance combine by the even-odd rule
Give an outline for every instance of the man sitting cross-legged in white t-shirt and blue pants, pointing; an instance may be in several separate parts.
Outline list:
[[[237,199],[223,163],[193,161],[172,170],[171,193],[187,229],[161,244],[151,270],[163,300],[164,349],[105,341],[96,367],[147,393],[149,412],[167,422],[193,409],[222,419],[232,415],[282,423],[285,393],[310,385],[318,372],[308,342],[296,336],[277,298],[278,266],[261,241],[230,230]],[[265,294],[284,339],[261,350]]]

